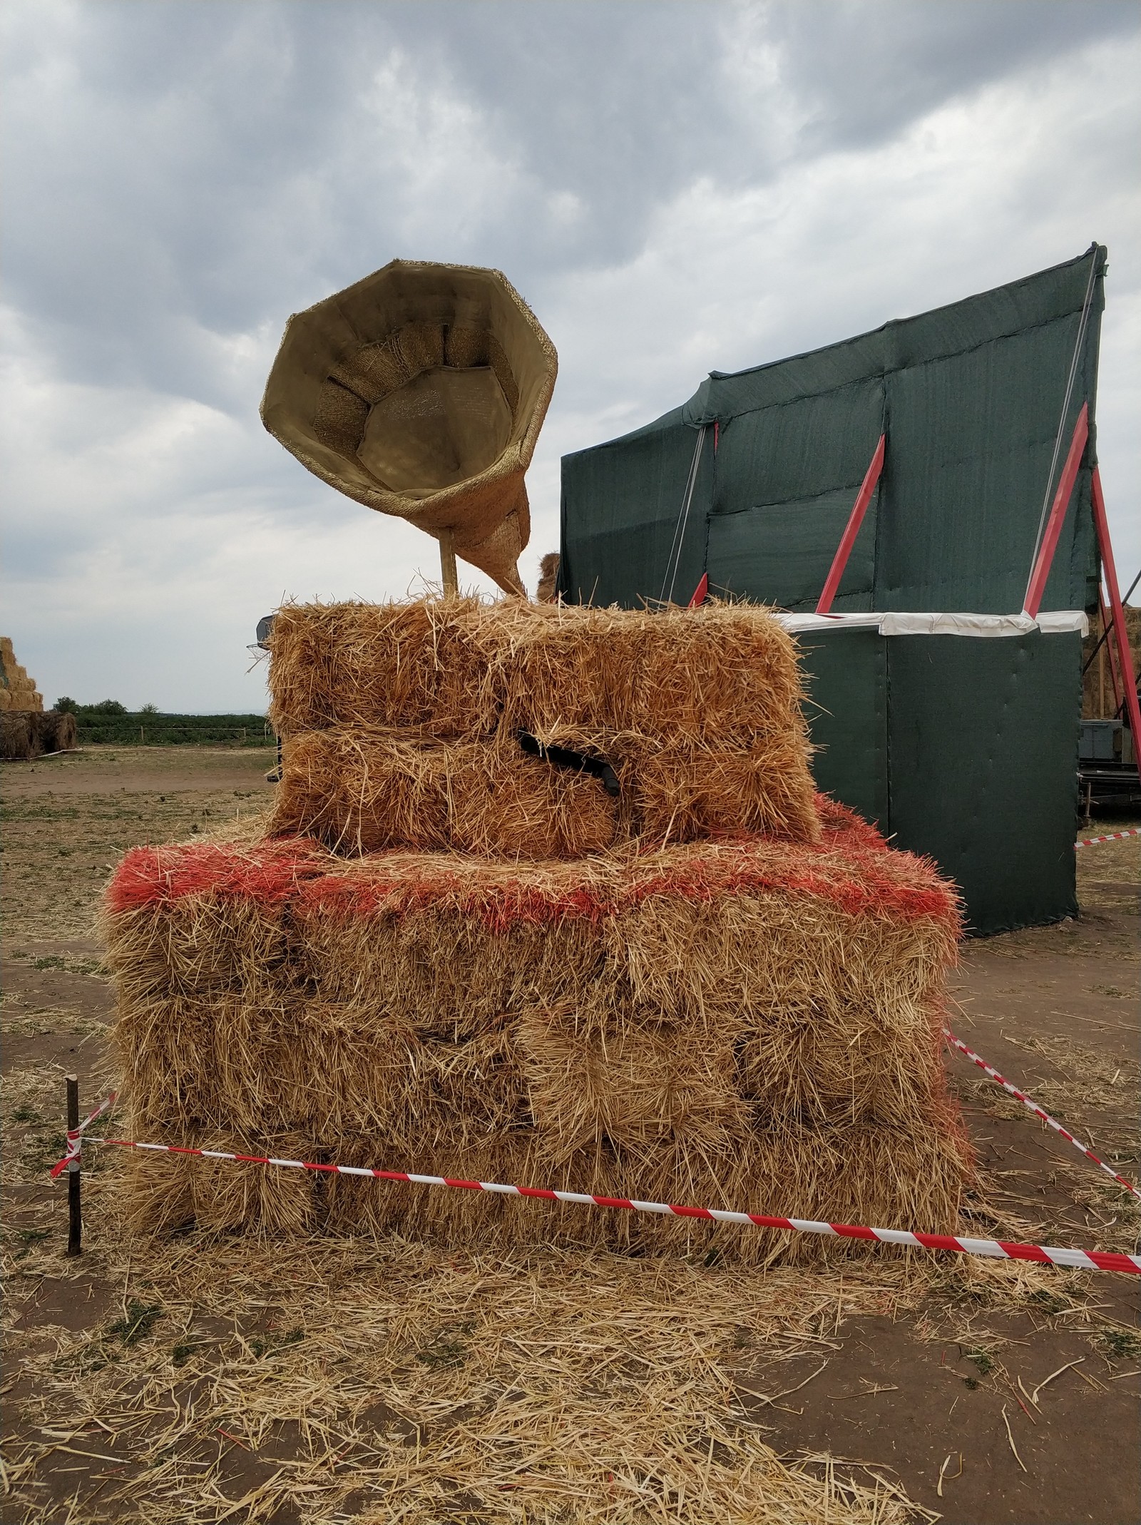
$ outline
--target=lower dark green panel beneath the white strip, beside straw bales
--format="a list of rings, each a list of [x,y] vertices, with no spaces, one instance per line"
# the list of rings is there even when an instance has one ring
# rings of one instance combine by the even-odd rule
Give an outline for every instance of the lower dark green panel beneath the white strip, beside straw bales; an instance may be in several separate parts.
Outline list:
[[[822,790],[935,859],[973,932],[1077,915],[1082,637],[799,637]]]

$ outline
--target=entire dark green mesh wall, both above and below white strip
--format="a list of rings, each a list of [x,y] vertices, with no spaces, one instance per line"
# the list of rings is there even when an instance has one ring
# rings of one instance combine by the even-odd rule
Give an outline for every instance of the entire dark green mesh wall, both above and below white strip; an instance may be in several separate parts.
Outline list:
[[[714,593],[813,610],[883,433],[883,473],[833,610],[1016,613],[1072,369],[1060,456],[1083,403],[1091,433],[1042,608],[1092,610],[1104,264],[1094,244],[857,339],[714,372],[683,407],[564,456],[563,598],[685,602],[708,572]],[[976,932],[1075,912],[1077,634],[837,627],[801,644],[822,788],[930,854]]]

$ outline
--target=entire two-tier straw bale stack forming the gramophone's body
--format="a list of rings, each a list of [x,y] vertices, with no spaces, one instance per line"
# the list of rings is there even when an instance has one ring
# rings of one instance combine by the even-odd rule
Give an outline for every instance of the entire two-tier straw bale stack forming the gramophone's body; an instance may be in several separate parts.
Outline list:
[[[108,889],[136,1138],[952,1228],[956,900],[813,796],[763,610],[336,605],[284,610],[272,640],[273,834],[139,848]],[[520,730],[604,758],[618,798]],[[715,1232],[153,1154],[130,1197],[169,1228]]]

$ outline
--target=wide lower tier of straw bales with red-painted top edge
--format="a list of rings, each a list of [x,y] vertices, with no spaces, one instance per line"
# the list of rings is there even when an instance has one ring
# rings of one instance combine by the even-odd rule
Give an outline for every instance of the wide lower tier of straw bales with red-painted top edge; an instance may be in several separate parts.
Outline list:
[[[564,862],[136,849],[107,903],[133,1122],[244,1153],[293,1136],[291,1157],[949,1228],[967,1168],[938,1060],[955,897],[821,810],[818,843]],[[455,1243],[693,1232],[313,1190],[314,1222]],[[203,1211],[232,1223],[236,1200]],[[278,1222],[261,1199],[241,1211]]]

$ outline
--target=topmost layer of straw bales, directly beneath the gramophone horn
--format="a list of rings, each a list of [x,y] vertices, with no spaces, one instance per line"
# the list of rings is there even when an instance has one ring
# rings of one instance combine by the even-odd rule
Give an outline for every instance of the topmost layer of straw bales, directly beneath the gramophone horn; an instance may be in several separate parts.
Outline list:
[[[287,735],[416,726],[459,737],[502,723],[711,744],[804,737],[795,642],[750,604],[288,604],[270,650],[270,712]]]

